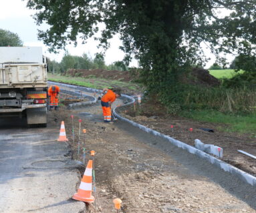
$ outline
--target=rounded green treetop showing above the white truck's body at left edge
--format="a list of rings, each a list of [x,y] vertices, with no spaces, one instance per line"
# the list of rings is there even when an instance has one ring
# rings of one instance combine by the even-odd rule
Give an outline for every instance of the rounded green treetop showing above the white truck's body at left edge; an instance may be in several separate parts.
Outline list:
[[[23,42],[16,33],[0,29],[0,47],[22,47]]]

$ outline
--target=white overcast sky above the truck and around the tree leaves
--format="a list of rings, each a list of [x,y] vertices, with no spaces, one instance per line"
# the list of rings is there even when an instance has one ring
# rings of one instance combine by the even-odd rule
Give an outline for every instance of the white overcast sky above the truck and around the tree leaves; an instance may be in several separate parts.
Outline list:
[[[0,0],[0,29],[17,33],[24,46],[43,47],[43,52],[46,53],[47,57],[60,62],[63,57],[63,51],[57,55],[50,54],[47,52],[47,47],[37,39],[37,29],[45,30],[47,25],[35,25],[35,20],[32,17],[35,11],[27,9],[26,2],[21,0]],[[121,41],[118,39],[118,36],[114,37],[111,41],[110,49],[106,51],[105,61],[107,65],[123,59],[124,53],[118,48],[120,45]],[[71,55],[81,56],[83,53],[87,53],[94,57],[94,54],[99,52],[96,46],[96,41],[89,39],[85,45],[78,44],[77,47],[68,45],[66,49],[68,49]],[[210,53],[207,53],[207,56],[212,58],[207,63],[206,67],[208,68],[215,62],[215,58]],[[135,60],[130,63],[130,66],[136,65],[137,61]]]

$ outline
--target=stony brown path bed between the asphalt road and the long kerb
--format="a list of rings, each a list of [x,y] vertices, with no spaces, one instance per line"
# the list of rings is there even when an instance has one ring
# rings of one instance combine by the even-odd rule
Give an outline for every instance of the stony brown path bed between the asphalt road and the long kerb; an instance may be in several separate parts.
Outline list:
[[[88,152],[96,151],[96,208],[90,205],[88,212],[116,212],[112,203],[116,197],[122,199],[122,212],[127,213],[256,212],[255,188],[125,122],[105,124],[100,105],[78,110],[62,107],[53,113],[53,120],[65,120],[75,160],[83,160],[82,148],[86,148],[87,160]],[[71,114],[76,133],[74,144]],[[86,134],[81,133],[78,156],[79,118]],[[151,119],[146,119],[148,126],[160,125]],[[195,131],[178,139],[188,140],[195,134],[207,136],[207,132]],[[182,128],[174,136],[181,135]]]

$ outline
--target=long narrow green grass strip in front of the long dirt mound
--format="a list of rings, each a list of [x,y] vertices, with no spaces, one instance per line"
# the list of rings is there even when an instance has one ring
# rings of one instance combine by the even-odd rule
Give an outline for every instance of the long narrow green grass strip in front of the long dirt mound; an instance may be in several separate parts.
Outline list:
[[[48,73],[49,81],[55,81],[60,83],[67,83],[71,85],[78,85],[82,87],[90,87],[94,89],[104,89],[106,87],[119,87],[121,89],[130,90],[132,92],[141,91],[141,85],[136,83],[117,81],[117,80],[109,80],[109,79],[100,79],[100,78],[84,78],[84,77],[67,77],[62,75],[52,75]]]

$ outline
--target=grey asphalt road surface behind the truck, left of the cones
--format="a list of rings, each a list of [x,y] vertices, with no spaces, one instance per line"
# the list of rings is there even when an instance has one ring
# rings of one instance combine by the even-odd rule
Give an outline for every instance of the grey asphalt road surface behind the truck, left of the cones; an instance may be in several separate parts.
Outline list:
[[[8,122],[7,122],[8,120]],[[0,120],[0,212],[79,212],[72,200],[78,170],[65,157],[59,129],[26,128],[24,120]]]

